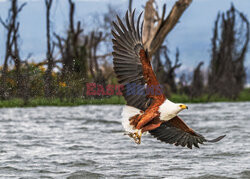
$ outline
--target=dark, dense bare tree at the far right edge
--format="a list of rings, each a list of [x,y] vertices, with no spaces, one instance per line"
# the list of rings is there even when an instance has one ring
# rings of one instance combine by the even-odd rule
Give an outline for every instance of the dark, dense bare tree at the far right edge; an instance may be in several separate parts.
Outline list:
[[[221,29],[218,28],[220,23]],[[209,67],[209,91],[231,99],[244,87],[245,55],[249,43],[249,22],[232,5],[218,14],[212,38],[212,59]]]

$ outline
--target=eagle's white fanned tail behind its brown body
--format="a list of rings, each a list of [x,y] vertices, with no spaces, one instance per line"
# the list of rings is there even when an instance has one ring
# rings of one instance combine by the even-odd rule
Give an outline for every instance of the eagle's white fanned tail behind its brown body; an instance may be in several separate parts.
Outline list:
[[[126,132],[134,133],[136,132],[135,129],[133,129],[133,126],[130,125],[129,119],[136,114],[141,114],[140,109],[134,108],[132,106],[125,106],[122,111],[122,125]]]

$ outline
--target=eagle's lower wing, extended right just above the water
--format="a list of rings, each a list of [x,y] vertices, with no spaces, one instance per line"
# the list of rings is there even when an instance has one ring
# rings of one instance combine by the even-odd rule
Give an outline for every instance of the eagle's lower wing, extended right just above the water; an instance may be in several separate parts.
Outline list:
[[[149,132],[162,142],[175,144],[176,146],[180,145],[182,147],[187,146],[190,149],[192,149],[193,145],[199,148],[198,144],[203,144],[204,142],[218,142],[226,136],[223,135],[213,140],[207,140],[189,128],[178,116],[162,123],[160,127]]]

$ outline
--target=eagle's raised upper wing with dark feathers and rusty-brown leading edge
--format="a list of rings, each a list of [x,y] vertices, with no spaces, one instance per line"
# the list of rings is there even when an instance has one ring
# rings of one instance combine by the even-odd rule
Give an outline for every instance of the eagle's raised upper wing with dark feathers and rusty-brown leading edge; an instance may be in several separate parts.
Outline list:
[[[127,105],[145,111],[156,98],[154,95],[148,95],[147,86],[159,84],[142,44],[140,32],[143,26],[140,26],[142,13],[138,17],[136,27],[134,14],[135,11],[131,15],[126,13],[126,25],[119,16],[117,16],[118,23],[113,22],[115,29],[112,30],[113,63],[118,82],[124,85],[122,93]]]

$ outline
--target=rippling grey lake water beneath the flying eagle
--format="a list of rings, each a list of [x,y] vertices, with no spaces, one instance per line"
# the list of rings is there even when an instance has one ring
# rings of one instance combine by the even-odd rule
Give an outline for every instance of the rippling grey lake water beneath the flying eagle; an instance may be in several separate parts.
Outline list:
[[[1,178],[250,178],[250,103],[190,104],[186,123],[200,149],[136,145],[123,135],[122,106],[0,109]]]

